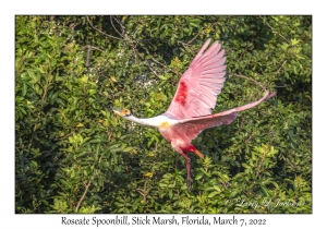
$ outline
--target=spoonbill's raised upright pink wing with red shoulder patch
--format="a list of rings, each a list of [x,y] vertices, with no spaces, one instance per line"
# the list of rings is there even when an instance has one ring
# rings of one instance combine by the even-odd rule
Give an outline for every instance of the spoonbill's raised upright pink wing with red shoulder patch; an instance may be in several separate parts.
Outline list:
[[[165,112],[167,117],[180,120],[211,113],[217,95],[223,87],[226,57],[218,41],[204,52],[210,40],[207,39],[180,79],[174,97]]]

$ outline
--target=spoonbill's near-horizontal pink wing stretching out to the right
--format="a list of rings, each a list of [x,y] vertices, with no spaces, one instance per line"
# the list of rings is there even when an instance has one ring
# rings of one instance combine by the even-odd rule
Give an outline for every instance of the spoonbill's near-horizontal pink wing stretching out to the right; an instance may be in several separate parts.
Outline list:
[[[185,132],[186,135],[190,137],[190,140],[194,140],[203,130],[213,126],[218,126],[221,124],[230,124],[238,117],[239,111],[255,107],[259,105],[262,101],[275,95],[276,95],[275,92],[271,94],[269,94],[269,92],[266,92],[264,97],[261,98],[259,100],[241,107],[226,110],[220,113],[214,113],[214,114],[197,117],[192,119],[183,119],[180,120],[179,124],[177,124],[175,128],[181,130],[182,132]]]

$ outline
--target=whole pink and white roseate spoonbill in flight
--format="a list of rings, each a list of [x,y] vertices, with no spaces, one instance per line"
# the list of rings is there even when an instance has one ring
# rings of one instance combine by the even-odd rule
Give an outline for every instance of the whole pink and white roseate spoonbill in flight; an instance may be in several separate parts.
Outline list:
[[[192,145],[192,140],[205,129],[230,124],[239,111],[257,106],[275,95],[266,91],[264,97],[257,101],[211,114],[217,95],[220,94],[226,80],[226,57],[223,57],[225,50],[220,49],[221,45],[217,40],[205,51],[209,44],[210,39],[207,39],[180,79],[177,92],[165,113],[140,119],[128,109],[113,108],[117,114],[126,120],[157,128],[160,134],[171,143],[171,147],[185,158],[189,190],[191,189],[191,159],[185,153],[194,153],[201,158],[204,157]]]

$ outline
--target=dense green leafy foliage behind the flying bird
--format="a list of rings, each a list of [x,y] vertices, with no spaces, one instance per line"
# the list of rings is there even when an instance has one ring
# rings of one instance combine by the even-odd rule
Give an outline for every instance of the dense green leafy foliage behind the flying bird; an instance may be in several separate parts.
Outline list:
[[[312,213],[311,16],[16,16],[16,213]],[[111,112],[164,112],[207,38],[277,96],[193,141]],[[262,96],[227,76],[214,112]]]

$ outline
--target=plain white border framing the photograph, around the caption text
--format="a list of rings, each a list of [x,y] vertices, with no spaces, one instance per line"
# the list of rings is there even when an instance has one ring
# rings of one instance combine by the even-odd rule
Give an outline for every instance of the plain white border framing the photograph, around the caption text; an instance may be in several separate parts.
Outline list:
[[[313,15],[313,214],[312,215],[235,215],[237,218],[267,219],[266,228],[276,226],[312,227],[325,225],[325,189],[326,188],[326,9],[323,1],[275,0],[275,1],[10,1],[0,3],[0,63],[1,63],[1,150],[0,150],[0,213],[3,228],[28,227],[34,228],[61,228],[77,226],[61,226],[63,215],[15,215],[14,214],[14,15],[16,14],[306,14]],[[70,215],[68,217],[81,217]],[[112,215],[97,215],[106,218]],[[133,215],[135,216],[135,215]],[[144,215],[142,215],[144,216]],[[168,217],[169,215],[161,215]],[[93,217],[86,215],[86,217]],[[129,217],[132,217],[131,215]],[[178,215],[177,217],[182,217]],[[206,215],[207,218],[214,217]],[[221,215],[232,217],[232,215]],[[93,226],[94,227],[94,226]],[[104,226],[102,228],[108,228]],[[137,226],[149,228],[153,226]],[[169,226],[173,227],[174,226]],[[195,228],[198,226],[187,226]],[[219,226],[217,226],[219,227]],[[257,227],[257,226],[256,226]],[[110,228],[116,228],[110,226]]]

